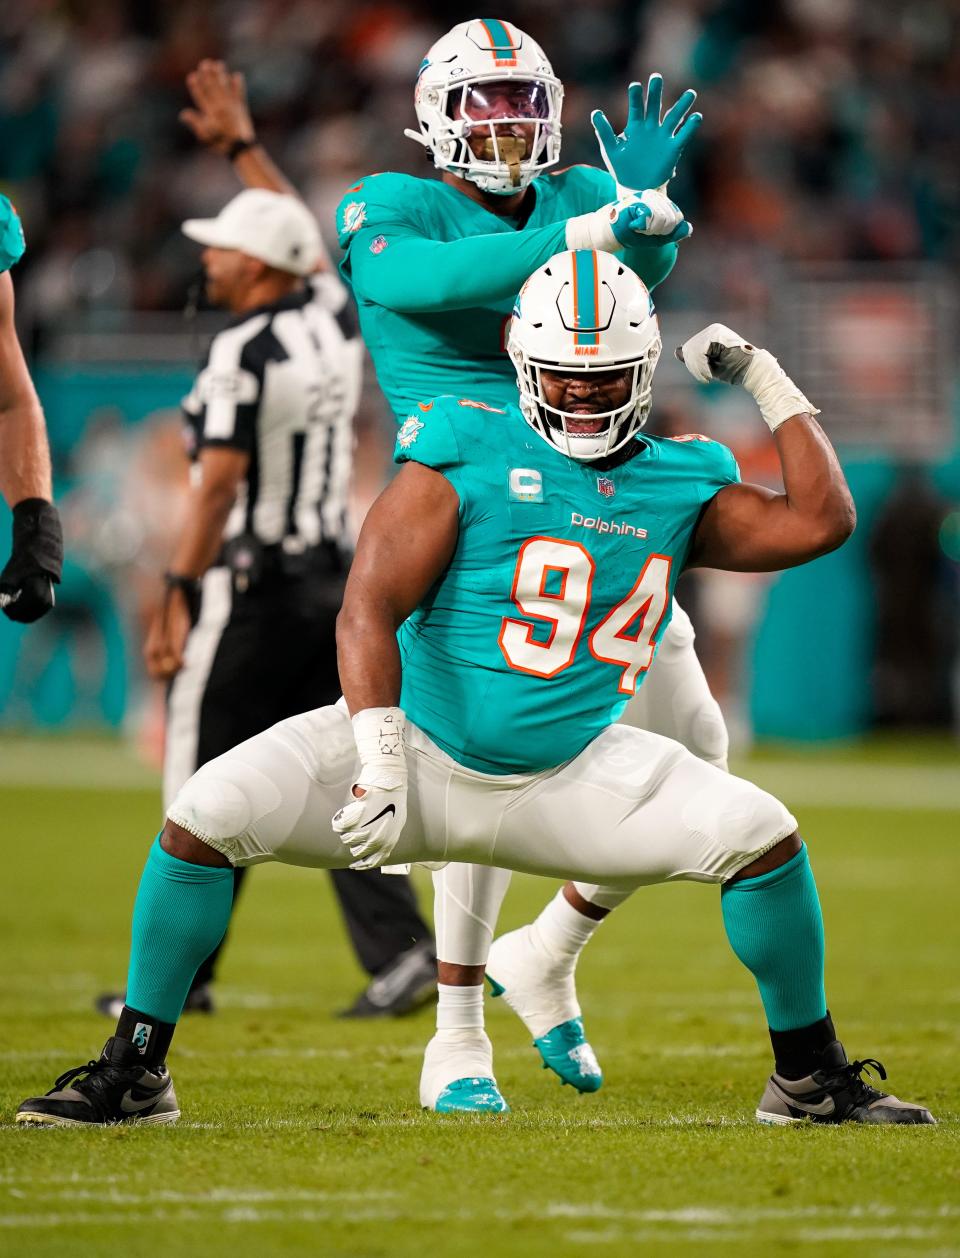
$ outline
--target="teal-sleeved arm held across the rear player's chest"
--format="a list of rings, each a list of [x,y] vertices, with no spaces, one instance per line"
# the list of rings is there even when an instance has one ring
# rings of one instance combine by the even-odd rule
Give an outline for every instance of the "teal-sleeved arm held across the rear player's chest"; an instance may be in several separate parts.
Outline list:
[[[513,297],[531,272],[566,248],[566,223],[449,242],[388,233],[389,245],[380,253],[370,250],[375,235],[366,230],[351,242],[354,292],[411,313],[469,309]]]

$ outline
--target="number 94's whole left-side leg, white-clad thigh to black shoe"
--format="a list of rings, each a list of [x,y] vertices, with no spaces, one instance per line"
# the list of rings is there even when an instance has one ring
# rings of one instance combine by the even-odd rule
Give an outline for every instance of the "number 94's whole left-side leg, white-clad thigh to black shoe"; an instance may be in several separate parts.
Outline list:
[[[179,1117],[165,1060],[198,966],[223,937],[233,866],[343,867],[330,819],[355,771],[350,720],[320,708],[203,766],[170,806],[133,910],[126,1005],[99,1060],[25,1101],[18,1122],[77,1126]]]

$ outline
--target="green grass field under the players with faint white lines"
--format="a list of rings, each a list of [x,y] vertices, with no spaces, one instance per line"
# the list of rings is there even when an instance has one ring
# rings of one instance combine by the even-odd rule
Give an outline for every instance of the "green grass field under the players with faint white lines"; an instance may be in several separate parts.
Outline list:
[[[424,1115],[432,1011],[336,1020],[362,975],[327,881],[269,867],[239,911],[220,1011],[174,1043],[179,1126],[19,1131],[19,1101],[109,1033],[91,999],[123,975],[159,804],[107,746],[0,742],[0,1254],[960,1254],[956,756],[773,751],[747,771],[810,842],[851,1055],[878,1057],[939,1127],[756,1126],[760,1004],[717,892],[696,886],[638,893],[585,955],[599,1094],[536,1068],[494,1001],[513,1113]],[[517,879],[503,926],[550,893]]]

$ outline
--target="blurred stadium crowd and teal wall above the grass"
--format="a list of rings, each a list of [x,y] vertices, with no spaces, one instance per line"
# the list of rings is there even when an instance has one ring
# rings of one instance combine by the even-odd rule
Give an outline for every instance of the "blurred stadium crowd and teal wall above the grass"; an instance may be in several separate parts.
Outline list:
[[[718,318],[774,347],[823,409],[861,523],[838,554],[773,580],[708,574],[684,596],[739,741],[956,721],[960,444],[957,9],[930,0],[594,0],[510,18],[566,86],[564,162],[598,159],[589,113],[623,118],[656,68],[706,122],[672,187],[695,224],[657,294],[666,343]],[[156,742],[140,637],[175,527],[175,408],[218,316],[185,322],[198,273],[182,219],[237,190],[177,121],[203,55],[245,72],[259,136],[332,255],[342,191],[429,175],[413,122],[448,4],[26,0],[0,16],[0,186],[28,253],[19,317],[45,403],[69,540],[58,615],[0,634],[0,720],[138,730]],[[672,98],[672,96],[671,96]],[[661,423],[727,440],[775,483],[745,400],[695,394],[664,356]],[[357,515],[390,421],[367,372]],[[3,522],[0,522],[3,527]],[[153,716],[145,716],[145,713]]]

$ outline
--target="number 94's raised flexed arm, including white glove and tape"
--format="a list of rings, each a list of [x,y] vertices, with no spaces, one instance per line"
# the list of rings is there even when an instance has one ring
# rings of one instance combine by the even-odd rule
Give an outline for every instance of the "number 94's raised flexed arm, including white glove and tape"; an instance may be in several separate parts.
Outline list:
[[[689,566],[771,572],[835,550],[853,532],[857,512],[814,406],[766,350],[722,323],[691,337],[678,357],[702,381],[742,384],[773,430],[784,492],[731,484],[707,504]]]

